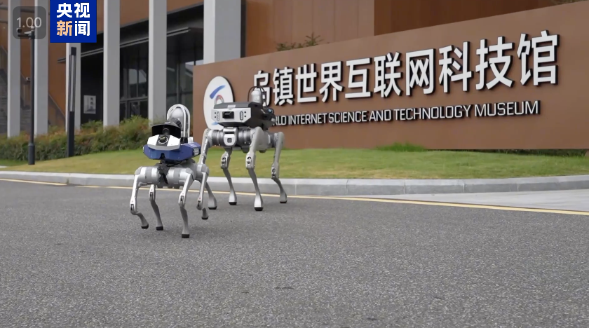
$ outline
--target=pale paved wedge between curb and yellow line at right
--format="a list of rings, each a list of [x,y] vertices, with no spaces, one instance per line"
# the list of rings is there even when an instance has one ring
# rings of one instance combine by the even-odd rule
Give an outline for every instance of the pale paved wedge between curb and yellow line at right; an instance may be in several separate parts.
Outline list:
[[[566,191],[532,191],[514,193],[447,193],[430,195],[363,196],[400,200],[424,200],[444,203],[497,205],[541,208],[547,210],[574,210],[589,212],[589,189]]]

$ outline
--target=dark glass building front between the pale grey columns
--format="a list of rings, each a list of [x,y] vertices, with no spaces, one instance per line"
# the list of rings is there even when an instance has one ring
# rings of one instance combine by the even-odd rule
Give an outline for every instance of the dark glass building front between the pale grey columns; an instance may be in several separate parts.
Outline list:
[[[120,114],[147,118],[149,22],[121,27]],[[203,5],[168,13],[167,107],[182,103],[192,110],[192,67],[203,60]],[[82,44],[81,101],[95,97],[95,111],[82,103],[81,123],[102,120],[102,32],[96,43]],[[65,63],[65,58],[60,59]]]

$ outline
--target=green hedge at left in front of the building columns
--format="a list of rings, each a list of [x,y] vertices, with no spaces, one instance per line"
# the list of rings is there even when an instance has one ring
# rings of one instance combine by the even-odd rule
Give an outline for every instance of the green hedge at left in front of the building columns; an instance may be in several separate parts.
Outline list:
[[[151,137],[151,125],[147,118],[134,116],[122,121],[119,126],[102,127],[102,122],[93,121],[83,124],[75,135],[76,155],[140,149]],[[21,133],[18,137],[6,138],[0,135],[0,159],[28,160],[29,134]],[[36,160],[65,158],[67,134],[62,128],[51,128],[46,135],[35,137]]]

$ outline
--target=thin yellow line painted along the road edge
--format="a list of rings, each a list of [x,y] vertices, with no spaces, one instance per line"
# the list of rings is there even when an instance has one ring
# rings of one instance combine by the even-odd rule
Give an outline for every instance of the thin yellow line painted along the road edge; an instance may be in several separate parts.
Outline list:
[[[133,189],[132,187],[123,186],[80,186],[84,188],[111,188],[111,189]],[[147,189],[145,186],[142,189]],[[158,191],[177,191],[180,193],[181,189],[157,189]],[[198,190],[189,190],[191,193],[198,193]],[[213,191],[213,193],[229,194],[229,191]],[[255,193],[243,193],[236,192],[237,195],[243,196],[255,196]],[[263,197],[280,197],[274,193],[262,193]],[[373,203],[395,203],[395,204],[411,204],[411,205],[431,205],[431,206],[445,206],[445,207],[465,207],[465,208],[478,208],[482,210],[502,210],[502,211],[513,211],[513,212],[536,212],[536,213],[551,213],[551,214],[570,214],[570,215],[585,215],[589,216],[589,212],[583,211],[572,211],[572,210],[548,210],[543,208],[531,208],[531,207],[510,207],[500,205],[476,205],[476,204],[464,204],[464,203],[443,203],[443,202],[432,202],[426,200],[400,200],[400,199],[384,199],[384,198],[362,198],[362,197],[345,197],[345,196],[302,196],[302,195],[289,195],[288,198],[300,198],[300,199],[327,199],[327,200],[355,200],[360,202],[373,202]]]

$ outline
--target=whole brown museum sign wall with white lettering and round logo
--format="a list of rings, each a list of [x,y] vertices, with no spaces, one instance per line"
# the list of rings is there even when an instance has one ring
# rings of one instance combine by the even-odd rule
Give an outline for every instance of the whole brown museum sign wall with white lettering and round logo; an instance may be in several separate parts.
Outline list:
[[[259,86],[289,148],[589,149],[588,15],[581,1],[198,65],[195,130]]]

